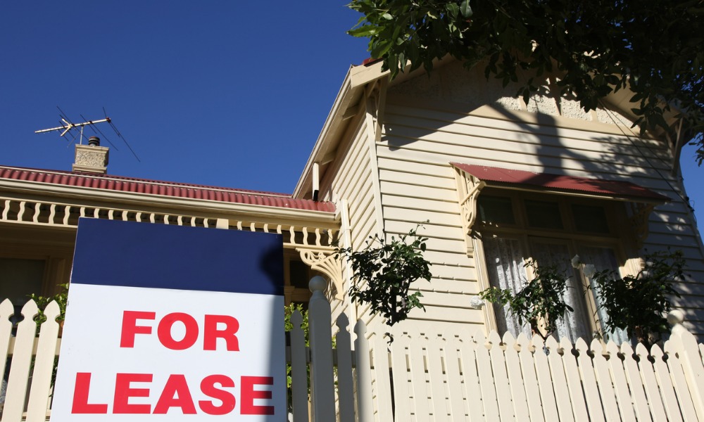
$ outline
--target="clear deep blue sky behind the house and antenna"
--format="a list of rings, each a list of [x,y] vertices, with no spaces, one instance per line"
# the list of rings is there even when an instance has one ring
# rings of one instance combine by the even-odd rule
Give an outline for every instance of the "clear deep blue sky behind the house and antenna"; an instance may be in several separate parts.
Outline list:
[[[0,164],[70,170],[103,107],[110,174],[290,193],[366,39],[346,1],[11,1],[0,14]],[[87,129],[90,136],[94,133]],[[103,140],[104,146],[111,146]],[[687,193],[704,221],[692,148]]]

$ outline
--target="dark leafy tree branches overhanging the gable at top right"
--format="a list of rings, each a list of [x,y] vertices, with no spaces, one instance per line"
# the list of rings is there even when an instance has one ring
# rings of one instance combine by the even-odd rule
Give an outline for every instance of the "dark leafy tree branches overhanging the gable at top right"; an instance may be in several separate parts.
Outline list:
[[[641,131],[692,139],[704,160],[703,0],[352,0],[349,33],[369,37],[391,77],[452,56],[486,77],[521,82],[527,101],[546,77],[585,110],[633,92]],[[668,124],[667,116],[678,117]]]

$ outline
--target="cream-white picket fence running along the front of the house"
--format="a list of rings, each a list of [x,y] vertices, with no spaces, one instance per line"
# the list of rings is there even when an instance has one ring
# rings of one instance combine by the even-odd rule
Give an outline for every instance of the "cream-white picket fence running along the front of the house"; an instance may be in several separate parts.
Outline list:
[[[596,340],[573,346],[564,339],[502,339],[493,332],[488,338],[482,333],[430,335],[413,324],[395,329],[389,345],[382,335],[367,333],[362,321],[351,329],[344,315],[336,321],[333,350],[325,281],[314,279],[310,287],[310,349],[301,315],[291,316],[295,422],[704,422],[704,345],[681,326],[681,314],[671,315],[670,340],[662,348],[653,346],[650,354],[642,345],[603,347]],[[0,304],[0,349],[8,351],[7,359],[0,359],[0,374],[11,362],[0,422],[49,417],[60,342],[54,321],[58,306],[52,303],[45,312],[49,319],[36,338],[31,316],[37,307],[27,302],[13,337],[12,305]]]

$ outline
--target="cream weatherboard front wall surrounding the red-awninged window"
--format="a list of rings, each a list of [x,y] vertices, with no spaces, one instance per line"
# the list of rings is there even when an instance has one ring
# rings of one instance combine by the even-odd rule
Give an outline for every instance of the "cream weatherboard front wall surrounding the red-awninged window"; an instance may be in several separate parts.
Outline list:
[[[439,68],[438,75],[423,75],[389,88],[382,139],[376,143],[386,233],[403,234],[429,220],[420,233],[429,238],[426,257],[433,264],[434,277],[430,283],[417,282],[427,312],[413,312],[412,318],[484,323],[482,311],[469,307],[471,295],[480,286],[475,262],[465,249],[449,165],[456,161],[632,181],[668,196],[671,202],[651,213],[650,236],[643,246],[649,251],[670,246],[684,252],[692,281],[679,283],[683,298],[677,303],[686,311],[692,331],[704,333],[702,250],[691,212],[676,192],[681,185],[670,176],[672,160],[665,143],[631,136],[628,126],[609,122],[610,117],[620,122],[625,117],[608,110],[580,114],[566,107],[565,101],[562,110],[569,117],[517,110],[520,107],[510,98],[484,92],[494,85],[486,84],[483,77],[475,79],[477,96],[496,101],[492,106],[472,106],[472,101],[462,102],[459,97],[462,89],[444,85],[457,83],[454,71],[451,66]],[[559,113],[556,106],[546,105],[551,98],[541,99],[540,107],[529,104],[527,110]],[[501,108],[506,104],[516,109]]]

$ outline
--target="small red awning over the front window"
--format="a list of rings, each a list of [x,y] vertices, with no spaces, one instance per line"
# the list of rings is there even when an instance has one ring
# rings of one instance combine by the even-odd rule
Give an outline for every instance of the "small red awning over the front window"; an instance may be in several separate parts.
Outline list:
[[[520,184],[553,188],[562,191],[577,191],[593,193],[617,198],[643,198],[648,200],[668,201],[670,198],[650,191],[629,181],[591,179],[589,177],[565,176],[564,174],[534,173],[523,170],[508,170],[486,165],[470,165],[461,162],[451,162],[451,165],[464,172],[472,174],[479,180],[495,182],[496,184]]]

